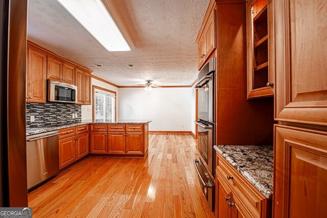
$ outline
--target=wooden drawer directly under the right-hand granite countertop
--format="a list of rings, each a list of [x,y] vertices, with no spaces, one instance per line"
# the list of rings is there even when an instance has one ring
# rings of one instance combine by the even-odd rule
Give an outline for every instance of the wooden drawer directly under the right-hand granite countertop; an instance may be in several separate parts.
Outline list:
[[[218,166],[216,169],[222,179],[229,185],[232,192],[238,196],[239,199],[242,199],[242,203],[246,206],[248,212],[252,214],[253,217],[260,217],[263,209],[263,200],[266,198],[248,181],[245,181],[245,179],[242,178],[243,176],[237,172],[236,169],[233,169],[224,158],[219,154],[216,158],[217,157]]]

